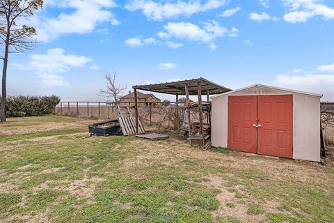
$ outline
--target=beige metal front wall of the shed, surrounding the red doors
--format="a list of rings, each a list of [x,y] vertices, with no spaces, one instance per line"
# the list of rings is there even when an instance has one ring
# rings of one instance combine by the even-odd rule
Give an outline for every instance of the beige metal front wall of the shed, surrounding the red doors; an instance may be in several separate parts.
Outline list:
[[[228,146],[228,95],[279,94],[293,94],[293,158],[319,162],[320,98],[261,86],[212,98],[212,146]]]

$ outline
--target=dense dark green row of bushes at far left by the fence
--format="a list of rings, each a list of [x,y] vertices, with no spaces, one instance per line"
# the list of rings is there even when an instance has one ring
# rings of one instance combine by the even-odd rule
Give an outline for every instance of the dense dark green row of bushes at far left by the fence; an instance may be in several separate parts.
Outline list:
[[[0,97],[1,98],[1,97]],[[56,95],[51,96],[9,96],[6,99],[6,117],[42,116],[51,114],[61,101]]]

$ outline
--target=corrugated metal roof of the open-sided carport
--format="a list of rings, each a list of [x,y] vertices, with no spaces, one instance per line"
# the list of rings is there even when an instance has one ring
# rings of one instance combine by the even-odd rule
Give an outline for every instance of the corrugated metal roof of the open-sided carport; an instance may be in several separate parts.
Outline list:
[[[201,95],[206,95],[207,91],[209,94],[218,94],[232,91],[231,89],[221,86],[214,82],[210,82],[205,78],[197,79],[186,79],[178,82],[166,82],[161,84],[147,84],[147,85],[135,85],[133,89],[141,89],[144,91],[153,91],[158,93],[168,93],[172,95],[185,95],[185,84],[188,84],[189,95],[198,95],[198,82],[201,83]]]

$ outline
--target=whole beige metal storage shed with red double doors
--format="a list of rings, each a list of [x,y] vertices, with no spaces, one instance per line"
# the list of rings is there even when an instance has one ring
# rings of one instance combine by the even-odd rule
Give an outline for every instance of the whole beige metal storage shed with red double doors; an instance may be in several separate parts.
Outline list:
[[[322,95],[255,84],[212,97],[212,146],[320,161]]]

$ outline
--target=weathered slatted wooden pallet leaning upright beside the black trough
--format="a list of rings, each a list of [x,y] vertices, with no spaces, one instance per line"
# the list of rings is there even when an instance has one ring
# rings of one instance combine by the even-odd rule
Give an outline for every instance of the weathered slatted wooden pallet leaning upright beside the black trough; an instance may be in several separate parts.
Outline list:
[[[120,122],[120,128],[122,128],[123,135],[135,135],[136,134],[136,118],[134,118],[130,112],[129,107],[121,108],[117,105],[118,121]],[[138,119],[138,134],[145,134],[144,125]]]

